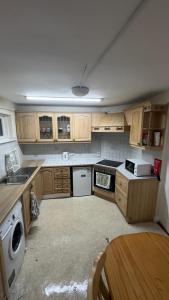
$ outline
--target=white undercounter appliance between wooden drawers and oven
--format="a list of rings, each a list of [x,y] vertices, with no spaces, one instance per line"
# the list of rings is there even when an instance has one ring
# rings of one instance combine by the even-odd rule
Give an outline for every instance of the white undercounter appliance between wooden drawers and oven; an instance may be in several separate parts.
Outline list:
[[[91,167],[73,167],[73,196],[91,195]]]

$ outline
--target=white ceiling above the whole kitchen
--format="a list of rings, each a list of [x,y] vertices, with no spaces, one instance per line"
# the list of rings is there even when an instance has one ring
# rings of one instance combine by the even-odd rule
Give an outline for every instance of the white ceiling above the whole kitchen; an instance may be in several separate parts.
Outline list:
[[[89,97],[105,98],[99,105],[169,89],[168,0],[144,1],[96,64],[139,2],[1,1],[0,95],[16,103],[27,103],[25,95],[72,97],[85,64],[83,83]]]

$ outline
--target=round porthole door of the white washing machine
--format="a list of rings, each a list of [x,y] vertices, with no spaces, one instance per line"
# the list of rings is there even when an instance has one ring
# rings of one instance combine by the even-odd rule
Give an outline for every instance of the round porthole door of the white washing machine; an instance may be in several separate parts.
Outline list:
[[[21,247],[23,239],[23,233],[23,223],[21,222],[21,220],[16,220],[12,227],[11,238],[9,242],[9,255],[12,259],[15,259],[19,254],[19,249]]]

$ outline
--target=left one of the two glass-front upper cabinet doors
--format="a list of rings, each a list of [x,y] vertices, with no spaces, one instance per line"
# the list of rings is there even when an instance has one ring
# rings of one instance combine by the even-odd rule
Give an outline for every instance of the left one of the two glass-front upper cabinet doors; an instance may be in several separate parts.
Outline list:
[[[38,114],[38,141],[50,142],[54,141],[54,125],[53,114]]]

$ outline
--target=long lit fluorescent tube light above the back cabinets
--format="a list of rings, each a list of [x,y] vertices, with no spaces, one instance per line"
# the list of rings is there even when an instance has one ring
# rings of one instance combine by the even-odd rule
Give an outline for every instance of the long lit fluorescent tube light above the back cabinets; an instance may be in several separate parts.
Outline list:
[[[37,97],[37,96],[26,96],[27,100],[30,101],[60,101],[60,102],[101,102],[101,98],[70,98],[70,97]]]

